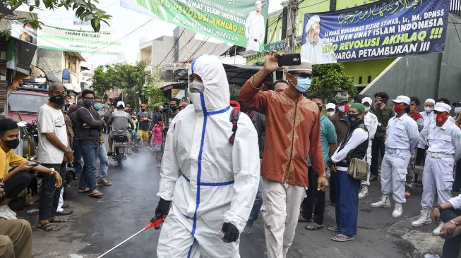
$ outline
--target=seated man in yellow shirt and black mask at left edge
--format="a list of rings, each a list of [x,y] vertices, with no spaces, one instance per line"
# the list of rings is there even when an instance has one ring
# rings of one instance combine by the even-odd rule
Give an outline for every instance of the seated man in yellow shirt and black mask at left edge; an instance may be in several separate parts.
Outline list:
[[[32,180],[29,170],[33,169],[42,173],[51,174],[52,169],[39,165],[37,162],[28,161],[13,152],[19,145],[19,129],[15,121],[9,118],[0,119],[0,176],[4,183],[4,195],[0,197],[0,217],[16,219],[16,213],[8,207],[11,199],[18,197]],[[11,171],[8,168],[12,167]],[[62,183],[59,173],[53,173],[55,186]],[[1,227],[0,227],[1,228]],[[1,255],[0,255],[1,257]]]

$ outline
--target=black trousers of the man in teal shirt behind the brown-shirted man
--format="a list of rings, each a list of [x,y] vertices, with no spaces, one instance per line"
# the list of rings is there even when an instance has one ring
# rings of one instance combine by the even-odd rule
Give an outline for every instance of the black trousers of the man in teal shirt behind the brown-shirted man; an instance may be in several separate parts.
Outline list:
[[[323,213],[325,212],[325,192],[317,190],[318,176],[313,168],[309,166],[309,188],[306,190],[306,198],[302,202],[303,218],[312,219],[313,222],[323,224]]]

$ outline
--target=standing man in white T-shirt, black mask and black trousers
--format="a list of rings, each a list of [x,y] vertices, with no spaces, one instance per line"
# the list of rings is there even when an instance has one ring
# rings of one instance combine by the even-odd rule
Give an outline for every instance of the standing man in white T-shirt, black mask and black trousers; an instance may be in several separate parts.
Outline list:
[[[61,111],[65,94],[63,85],[56,82],[49,85],[49,102],[40,106],[37,114],[37,161],[54,169],[42,179],[37,223],[37,229],[42,231],[58,231],[60,228],[52,224],[67,222],[66,219],[56,216],[61,188],[56,188],[56,178],[53,176],[54,173],[60,173],[61,178],[65,178],[64,162],[73,162],[73,151],[68,147],[66,122]]]

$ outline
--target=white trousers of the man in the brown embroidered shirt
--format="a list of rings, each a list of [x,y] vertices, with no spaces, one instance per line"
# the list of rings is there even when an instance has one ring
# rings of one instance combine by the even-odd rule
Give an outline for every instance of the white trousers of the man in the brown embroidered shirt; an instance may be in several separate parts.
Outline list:
[[[268,258],[287,257],[298,224],[304,192],[306,188],[302,186],[264,179],[261,211]]]

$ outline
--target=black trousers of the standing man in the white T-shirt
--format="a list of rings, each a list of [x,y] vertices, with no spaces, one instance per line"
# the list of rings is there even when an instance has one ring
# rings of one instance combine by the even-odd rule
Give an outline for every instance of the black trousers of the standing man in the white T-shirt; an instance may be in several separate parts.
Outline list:
[[[66,178],[66,164],[42,164],[47,168],[54,168],[55,173],[59,173],[61,178]],[[38,219],[40,221],[50,220],[56,216],[56,209],[58,209],[59,195],[61,188],[56,188],[54,184],[56,178],[49,174],[44,174],[42,185],[40,189],[40,204],[38,208]]]

